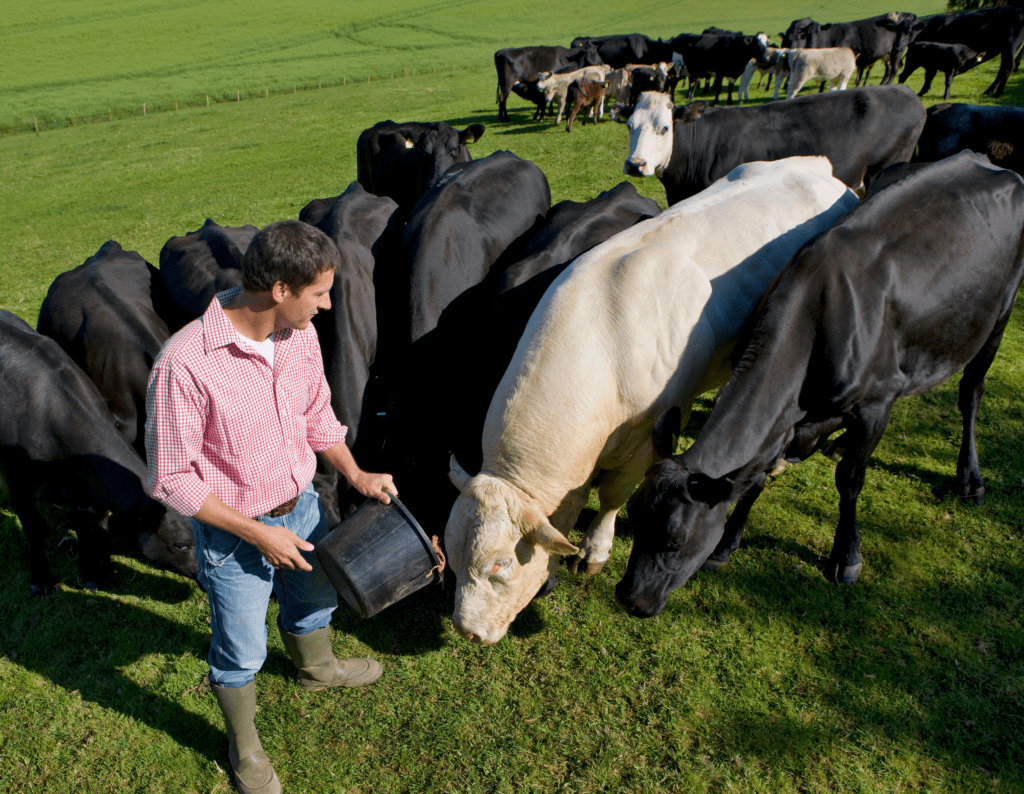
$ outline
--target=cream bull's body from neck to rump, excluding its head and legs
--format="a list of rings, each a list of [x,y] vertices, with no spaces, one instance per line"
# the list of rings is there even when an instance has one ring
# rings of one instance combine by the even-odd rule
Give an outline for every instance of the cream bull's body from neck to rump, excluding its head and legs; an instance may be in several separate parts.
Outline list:
[[[855,202],[821,159],[755,163],[581,256],[495,392],[483,469],[536,493],[622,465],[657,415],[728,378],[764,289]]]

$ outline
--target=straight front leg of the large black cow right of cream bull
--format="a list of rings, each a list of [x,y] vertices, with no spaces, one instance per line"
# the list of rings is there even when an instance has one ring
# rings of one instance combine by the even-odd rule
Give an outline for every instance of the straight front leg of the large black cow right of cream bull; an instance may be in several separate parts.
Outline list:
[[[860,405],[844,425],[846,449],[836,467],[839,491],[839,526],[833,550],[825,562],[825,578],[831,582],[853,584],[860,577],[860,533],[857,530],[857,498],[864,488],[864,471],[882,433],[889,423],[892,403]]]

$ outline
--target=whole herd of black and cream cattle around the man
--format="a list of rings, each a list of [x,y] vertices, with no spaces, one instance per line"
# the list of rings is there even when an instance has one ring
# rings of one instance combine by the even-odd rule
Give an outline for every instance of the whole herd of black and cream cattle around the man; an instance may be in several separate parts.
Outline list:
[[[893,403],[959,370],[955,484],[981,502],[974,421],[1024,278],[1024,111],[926,113],[891,83],[904,51],[899,82],[925,68],[927,90],[944,71],[947,96],[953,74],[999,55],[998,95],[1024,12],[799,19],[781,37],[711,29],[495,54],[500,121],[510,93],[538,118],[556,103],[568,128],[610,97],[629,129],[623,171],[657,176],[664,212],[628,181],[552,206],[534,163],[472,158],[483,125],[392,121],[358,136],[344,193],[300,212],[341,253],[332,309],[314,319],[334,410],[362,465],[392,471],[421,524],[443,530],[468,639],[501,639],[562,557],[598,573],[631,495],[616,596],[656,615],[698,568],[728,561],[777,461],[815,451],[839,460],[824,574],[856,581],[857,497]],[[883,84],[867,86],[878,60]],[[677,83],[692,97],[714,78],[731,103],[758,71],[776,96],[788,79],[790,98],[673,101]],[[146,381],[169,336],[241,283],[256,232],[208,219],[168,240],[159,268],[109,241],[53,281],[36,330],[0,314],[0,474],[33,593],[55,584],[37,501],[70,508],[85,586],[109,576],[112,533],[197,575],[188,520],[144,490]],[[693,400],[719,386],[674,455]],[[315,483],[334,523],[361,499],[327,464]],[[595,486],[575,545],[566,533]]]

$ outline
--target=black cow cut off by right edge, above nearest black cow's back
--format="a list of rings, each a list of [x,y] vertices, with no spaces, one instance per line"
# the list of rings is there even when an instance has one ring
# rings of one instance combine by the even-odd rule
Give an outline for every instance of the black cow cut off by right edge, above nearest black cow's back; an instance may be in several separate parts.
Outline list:
[[[929,108],[914,162],[942,160],[965,149],[1024,175],[1024,108],[948,102]]]

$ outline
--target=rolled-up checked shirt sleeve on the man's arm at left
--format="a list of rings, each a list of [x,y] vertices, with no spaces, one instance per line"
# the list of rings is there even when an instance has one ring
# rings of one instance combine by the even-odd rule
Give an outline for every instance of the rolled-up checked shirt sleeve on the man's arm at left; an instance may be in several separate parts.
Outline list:
[[[191,378],[176,376],[158,360],[145,393],[145,453],[153,498],[182,515],[195,515],[210,495],[197,473],[206,408]]]

